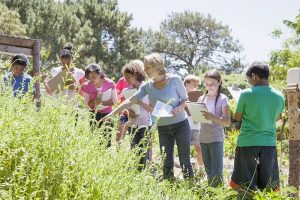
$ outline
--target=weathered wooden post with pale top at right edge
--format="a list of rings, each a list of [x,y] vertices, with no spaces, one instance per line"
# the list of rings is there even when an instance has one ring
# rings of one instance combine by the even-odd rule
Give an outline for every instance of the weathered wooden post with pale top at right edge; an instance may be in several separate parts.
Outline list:
[[[289,185],[300,186],[300,68],[292,68],[287,75],[287,101],[289,122]],[[298,194],[296,194],[298,196]]]

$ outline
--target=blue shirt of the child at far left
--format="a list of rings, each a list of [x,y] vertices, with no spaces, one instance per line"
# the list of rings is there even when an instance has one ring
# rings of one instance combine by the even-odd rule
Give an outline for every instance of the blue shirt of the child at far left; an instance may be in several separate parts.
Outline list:
[[[14,97],[16,97],[19,94],[26,94],[29,91],[30,82],[32,81],[32,77],[28,74],[23,74],[18,77],[14,77],[12,72],[7,73],[4,75],[4,82],[11,86],[13,89]],[[30,89],[29,92],[34,92],[34,89]]]

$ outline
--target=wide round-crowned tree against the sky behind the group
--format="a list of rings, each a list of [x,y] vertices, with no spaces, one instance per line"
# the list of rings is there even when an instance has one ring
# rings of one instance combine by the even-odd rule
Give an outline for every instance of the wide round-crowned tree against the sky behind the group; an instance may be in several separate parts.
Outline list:
[[[208,66],[232,72],[242,67],[237,57],[242,50],[238,41],[232,38],[228,26],[210,15],[172,13],[152,38],[152,50],[165,54],[176,70],[195,73]]]

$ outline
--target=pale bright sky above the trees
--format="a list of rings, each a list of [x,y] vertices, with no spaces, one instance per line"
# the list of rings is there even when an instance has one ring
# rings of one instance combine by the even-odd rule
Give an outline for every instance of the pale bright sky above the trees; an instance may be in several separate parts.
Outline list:
[[[234,39],[240,41],[244,63],[268,61],[271,51],[280,49],[292,31],[283,20],[295,21],[300,0],[118,0],[119,9],[133,15],[132,26],[159,30],[160,22],[172,12],[185,10],[210,14],[228,25]],[[274,29],[285,34],[272,37]]]

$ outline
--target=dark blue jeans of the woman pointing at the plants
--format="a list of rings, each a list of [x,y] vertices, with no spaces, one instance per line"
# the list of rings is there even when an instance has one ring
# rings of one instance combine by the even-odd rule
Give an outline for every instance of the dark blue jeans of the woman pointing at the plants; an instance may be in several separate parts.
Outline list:
[[[183,169],[184,178],[194,176],[190,161],[190,137],[191,129],[186,120],[166,126],[158,126],[159,145],[161,152],[164,151],[163,164],[164,179],[174,178],[174,145],[177,144],[179,162]]]

